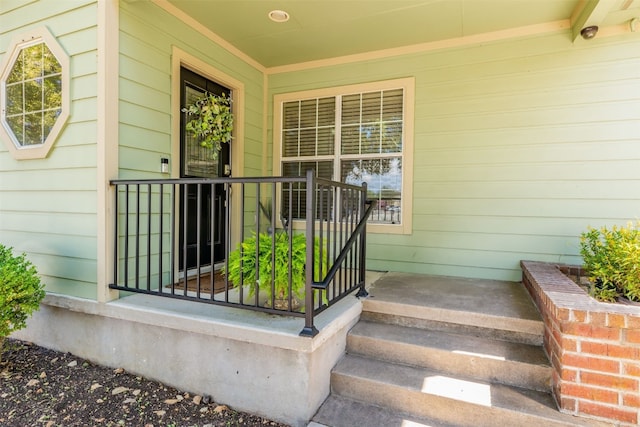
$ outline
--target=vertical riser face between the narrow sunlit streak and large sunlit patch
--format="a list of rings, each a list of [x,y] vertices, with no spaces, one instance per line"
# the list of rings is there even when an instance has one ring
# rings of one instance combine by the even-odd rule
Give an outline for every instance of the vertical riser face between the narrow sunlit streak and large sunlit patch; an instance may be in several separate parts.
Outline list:
[[[392,363],[422,366],[488,382],[544,392],[550,390],[552,370],[549,366],[452,353],[352,334],[347,338],[347,352]]]

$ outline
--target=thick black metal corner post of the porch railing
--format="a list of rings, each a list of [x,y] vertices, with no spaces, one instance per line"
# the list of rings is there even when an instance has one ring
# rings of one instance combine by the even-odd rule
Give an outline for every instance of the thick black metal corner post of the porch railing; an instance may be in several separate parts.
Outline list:
[[[314,315],[314,307],[313,307],[313,287],[311,286],[313,283],[313,251],[314,251],[314,242],[315,242],[315,193],[316,193],[316,180],[315,180],[315,172],[311,169],[307,171],[307,215],[306,215],[306,239],[307,239],[307,260],[305,263],[305,294],[304,294],[304,328],[302,332],[300,332],[301,336],[305,337],[314,337],[318,334],[318,329],[313,324],[313,315]]]

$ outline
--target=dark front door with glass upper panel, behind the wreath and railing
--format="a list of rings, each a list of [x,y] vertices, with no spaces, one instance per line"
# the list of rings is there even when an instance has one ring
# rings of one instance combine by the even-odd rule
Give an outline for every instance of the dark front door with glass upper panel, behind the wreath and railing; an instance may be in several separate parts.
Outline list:
[[[231,96],[231,90],[186,68],[180,69],[180,111],[206,93]],[[229,144],[214,158],[212,149],[186,132],[186,113],[180,116],[180,177],[216,178],[229,170]],[[200,203],[198,203],[200,198]],[[184,270],[186,248],[187,270],[224,261],[226,224],[223,185],[189,185],[180,197],[180,270]],[[185,209],[186,204],[186,209]],[[198,227],[199,224],[199,227]],[[186,226],[186,227],[185,227]],[[186,228],[186,236],[185,236]],[[199,231],[198,231],[199,230]],[[198,236],[199,235],[199,236]],[[185,245],[186,237],[186,245]],[[198,262],[199,261],[199,262]]]

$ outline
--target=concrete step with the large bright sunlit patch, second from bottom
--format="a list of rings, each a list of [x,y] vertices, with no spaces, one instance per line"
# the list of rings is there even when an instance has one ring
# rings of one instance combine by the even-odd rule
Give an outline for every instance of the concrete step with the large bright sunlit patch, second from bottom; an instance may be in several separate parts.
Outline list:
[[[332,393],[456,426],[600,426],[561,414],[550,394],[347,354]],[[359,424],[364,425],[364,424]]]

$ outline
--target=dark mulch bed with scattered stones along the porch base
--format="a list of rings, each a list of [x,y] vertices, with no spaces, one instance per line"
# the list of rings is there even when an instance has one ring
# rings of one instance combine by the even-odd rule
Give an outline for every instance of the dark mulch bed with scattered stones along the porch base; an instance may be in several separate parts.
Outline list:
[[[0,425],[286,427],[208,396],[11,339],[0,363]]]

